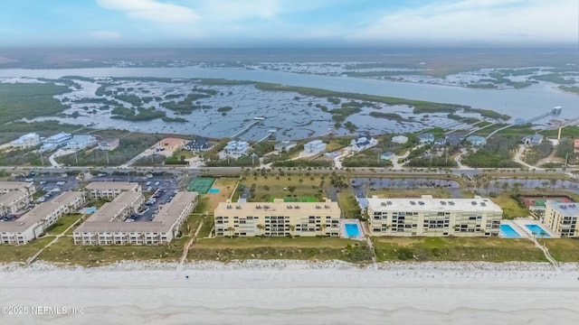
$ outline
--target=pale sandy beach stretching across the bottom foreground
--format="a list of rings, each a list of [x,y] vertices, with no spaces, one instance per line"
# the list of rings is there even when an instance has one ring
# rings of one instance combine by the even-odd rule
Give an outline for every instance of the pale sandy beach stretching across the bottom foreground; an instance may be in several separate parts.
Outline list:
[[[0,265],[0,276],[3,324],[559,325],[579,315],[577,264],[38,263]]]

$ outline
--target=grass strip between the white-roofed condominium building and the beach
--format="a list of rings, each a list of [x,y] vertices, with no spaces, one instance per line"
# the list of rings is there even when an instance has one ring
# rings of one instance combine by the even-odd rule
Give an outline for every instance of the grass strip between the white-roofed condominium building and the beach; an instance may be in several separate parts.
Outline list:
[[[373,237],[378,261],[546,262],[527,239],[498,237]]]

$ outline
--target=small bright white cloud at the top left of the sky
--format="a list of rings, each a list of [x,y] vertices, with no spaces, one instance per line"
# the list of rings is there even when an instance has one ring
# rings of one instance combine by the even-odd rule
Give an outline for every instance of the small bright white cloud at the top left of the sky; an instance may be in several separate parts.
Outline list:
[[[97,4],[109,10],[126,12],[129,18],[154,23],[194,23],[201,19],[189,7],[155,0],[97,0]]]

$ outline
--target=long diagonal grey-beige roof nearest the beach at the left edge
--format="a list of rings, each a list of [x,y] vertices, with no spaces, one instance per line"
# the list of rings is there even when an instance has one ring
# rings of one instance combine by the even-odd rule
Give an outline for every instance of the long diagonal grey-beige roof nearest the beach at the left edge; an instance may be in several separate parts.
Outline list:
[[[21,218],[14,221],[0,222],[0,233],[2,232],[23,232],[24,230],[33,227],[40,220],[52,213],[56,209],[60,209],[62,205],[67,205],[83,196],[81,191],[65,191],[54,200],[41,203],[28,211]]]

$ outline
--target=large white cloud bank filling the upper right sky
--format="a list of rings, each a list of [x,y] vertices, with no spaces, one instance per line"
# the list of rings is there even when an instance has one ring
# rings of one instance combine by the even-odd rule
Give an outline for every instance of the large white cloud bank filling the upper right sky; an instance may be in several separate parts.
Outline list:
[[[575,0],[446,0],[384,13],[349,41],[574,42]]]

